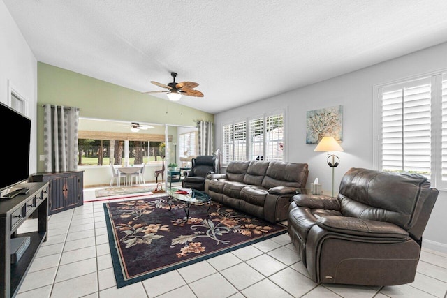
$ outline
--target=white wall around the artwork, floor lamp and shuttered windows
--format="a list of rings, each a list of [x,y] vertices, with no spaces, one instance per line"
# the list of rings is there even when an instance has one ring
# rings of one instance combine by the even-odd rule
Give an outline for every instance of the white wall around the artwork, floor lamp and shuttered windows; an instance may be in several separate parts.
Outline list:
[[[343,105],[343,152],[335,169],[335,189],[351,167],[373,168],[373,87],[376,84],[447,69],[447,43],[376,64],[353,73],[302,87],[285,94],[216,114],[216,148],[221,148],[221,125],[263,111],[288,106],[288,161],[309,164],[307,188],[316,177],[326,193],[332,188],[332,172],[325,153],[314,152],[315,144],[306,144],[306,112]],[[305,70],[303,70],[305,71]],[[424,233],[424,245],[447,252],[447,191],[441,191]]]

